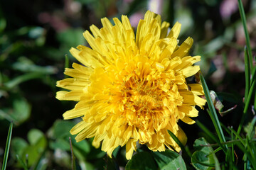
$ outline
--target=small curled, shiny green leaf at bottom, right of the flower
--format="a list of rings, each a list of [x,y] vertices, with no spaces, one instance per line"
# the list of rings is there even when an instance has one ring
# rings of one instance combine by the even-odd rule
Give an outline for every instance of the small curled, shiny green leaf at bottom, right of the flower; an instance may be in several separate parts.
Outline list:
[[[209,145],[203,137],[194,142],[193,146],[197,151],[192,154],[191,162],[198,170],[209,170],[215,166],[215,154],[212,147],[203,145]]]

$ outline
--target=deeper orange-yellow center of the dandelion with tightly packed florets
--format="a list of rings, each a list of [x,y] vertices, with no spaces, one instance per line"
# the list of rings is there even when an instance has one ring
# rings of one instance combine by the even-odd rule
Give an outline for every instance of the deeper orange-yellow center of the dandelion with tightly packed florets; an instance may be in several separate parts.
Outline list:
[[[146,80],[134,74],[120,86],[122,115],[129,125],[149,128],[156,120],[156,115],[163,108],[163,91],[159,89],[159,80]]]

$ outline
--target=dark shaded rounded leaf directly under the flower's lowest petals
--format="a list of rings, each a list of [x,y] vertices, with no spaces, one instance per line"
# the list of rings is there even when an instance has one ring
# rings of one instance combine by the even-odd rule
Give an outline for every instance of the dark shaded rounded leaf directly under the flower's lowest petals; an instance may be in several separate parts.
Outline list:
[[[157,169],[153,157],[148,152],[135,154],[125,166],[126,170],[151,170]]]

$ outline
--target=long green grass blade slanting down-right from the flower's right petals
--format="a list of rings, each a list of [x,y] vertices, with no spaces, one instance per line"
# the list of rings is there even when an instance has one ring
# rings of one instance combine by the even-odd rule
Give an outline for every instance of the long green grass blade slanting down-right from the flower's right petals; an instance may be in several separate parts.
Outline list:
[[[213,101],[211,100],[210,98],[210,92],[209,92],[209,89],[208,89],[208,86],[206,84],[206,80],[203,79],[203,76],[202,74],[200,74],[200,79],[201,79],[201,82],[202,82],[202,86],[203,86],[203,91],[205,93],[205,96],[206,96],[206,101],[208,103],[208,107],[209,107],[209,110],[210,110],[210,118],[212,118],[212,121],[213,121],[213,125],[214,125],[214,128],[217,132],[217,135],[218,135],[218,138],[220,140],[220,142],[226,142],[225,141],[225,136],[223,134],[223,130],[220,126],[220,121],[218,120],[218,115],[215,111],[215,108],[213,106]],[[228,149],[228,147],[225,145],[225,149]]]

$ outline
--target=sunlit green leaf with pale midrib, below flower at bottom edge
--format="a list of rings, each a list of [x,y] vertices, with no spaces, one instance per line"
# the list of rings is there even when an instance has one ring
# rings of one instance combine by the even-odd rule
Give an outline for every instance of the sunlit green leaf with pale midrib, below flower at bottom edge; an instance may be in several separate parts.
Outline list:
[[[186,169],[186,164],[181,155],[174,151],[166,149],[165,152],[152,152],[152,154],[159,168],[162,170]]]

